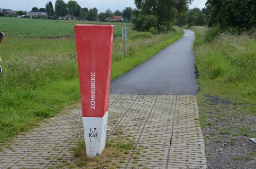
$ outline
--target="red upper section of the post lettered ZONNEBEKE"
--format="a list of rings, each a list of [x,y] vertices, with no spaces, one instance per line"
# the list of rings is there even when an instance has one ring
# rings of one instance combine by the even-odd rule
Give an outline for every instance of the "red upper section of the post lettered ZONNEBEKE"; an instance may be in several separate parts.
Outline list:
[[[75,25],[83,117],[103,117],[109,108],[113,25]]]

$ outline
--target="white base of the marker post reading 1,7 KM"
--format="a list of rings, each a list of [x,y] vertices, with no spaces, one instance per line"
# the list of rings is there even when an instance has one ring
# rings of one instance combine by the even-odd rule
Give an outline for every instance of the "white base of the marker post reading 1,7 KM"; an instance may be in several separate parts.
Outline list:
[[[106,146],[106,124],[108,112],[104,117],[83,117],[84,140],[87,157],[100,155]]]

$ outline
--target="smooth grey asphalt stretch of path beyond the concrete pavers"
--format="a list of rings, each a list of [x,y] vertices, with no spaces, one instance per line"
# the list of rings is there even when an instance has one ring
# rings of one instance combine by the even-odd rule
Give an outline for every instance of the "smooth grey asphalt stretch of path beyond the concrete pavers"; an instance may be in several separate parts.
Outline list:
[[[150,60],[111,82],[111,94],[196,95],[198,85],[192,50],[194,32],[184,36]]]

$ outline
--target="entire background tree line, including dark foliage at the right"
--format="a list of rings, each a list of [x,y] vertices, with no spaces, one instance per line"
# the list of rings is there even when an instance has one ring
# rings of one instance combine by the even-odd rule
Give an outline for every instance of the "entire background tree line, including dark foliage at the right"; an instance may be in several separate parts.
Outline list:
[[[238,27],[250,29],[256,26],[256,0],[207,0],[203,9],[188,9],[193,0],[135,0],[136,9],[126,7],[123,11],[107,9],[98,13],[97,8],[82,8],[76,1],[49,1],[46,8],[32,8],[45,11],[48,16],[62,17],[70,14],[88,21],[109,21],[113,16],[122,16],[133,23],[137,31],[153,34],[168,31],[173,25],[207,25],[223,28]]]

